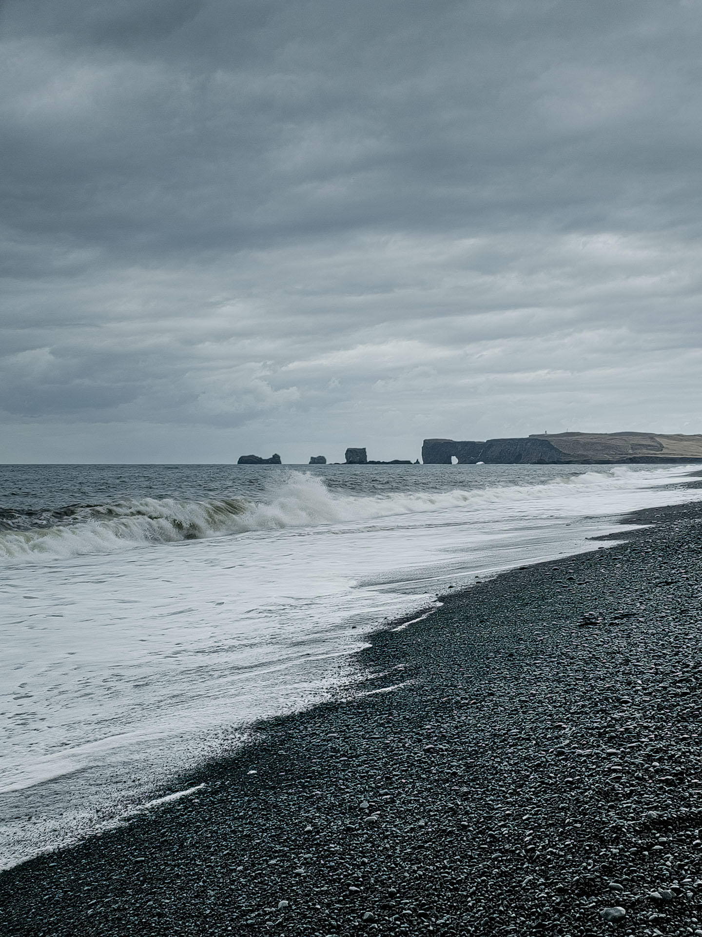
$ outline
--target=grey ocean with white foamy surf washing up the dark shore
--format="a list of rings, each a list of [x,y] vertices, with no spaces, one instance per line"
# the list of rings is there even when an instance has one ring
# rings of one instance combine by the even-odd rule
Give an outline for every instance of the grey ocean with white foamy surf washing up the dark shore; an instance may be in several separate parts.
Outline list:
[[[370,632],[566,574],[622,513],[702,498],[692,470],[0,466],[0,868],[180,794],[262,718],[368,692]]]

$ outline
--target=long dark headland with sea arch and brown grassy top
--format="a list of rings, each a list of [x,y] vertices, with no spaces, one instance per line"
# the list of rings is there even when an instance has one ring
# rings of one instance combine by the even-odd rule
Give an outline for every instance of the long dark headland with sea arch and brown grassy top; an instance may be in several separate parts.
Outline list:
[[[702,461],[702,436],[660,433],[534,433],[487,442],[425,439],[422,462],[450,465],[602,465]]]

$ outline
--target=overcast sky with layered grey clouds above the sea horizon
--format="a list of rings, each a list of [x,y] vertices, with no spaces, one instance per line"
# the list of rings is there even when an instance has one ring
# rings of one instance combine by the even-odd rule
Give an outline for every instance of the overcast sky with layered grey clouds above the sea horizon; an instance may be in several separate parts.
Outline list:
[[[702,0],[0,2],[0,461],[702,433]]]

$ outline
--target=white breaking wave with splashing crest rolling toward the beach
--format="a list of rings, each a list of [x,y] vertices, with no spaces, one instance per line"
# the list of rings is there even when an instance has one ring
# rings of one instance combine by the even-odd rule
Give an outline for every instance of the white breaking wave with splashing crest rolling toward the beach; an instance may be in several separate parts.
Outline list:
[[[641,475],[638,479],[644,481]],[[660,475],[657,481],[663,481]],[[549,499],[563,500],[565,489],[577,511],[578,494],[587,493],[592,498],[593,486],[611,490],[631,485],[630,471],[617,468],[606,472],[564,472],[557,479],[530,485],[483,484],[447,492],[361,496],[331,492],[319,477],[291,472],[279,478],[268,496],[260,500],[125,498],[111,504],[73,504],[44,511],[0,510],[0,561],[65,559],[254,530],[362,523],[393,514],[461,508],[482,513],[498,505],[508,507],[510,503],[512,512],[519,513],[521,502],[533,505],[534,499],[542,500],[547,509]]]

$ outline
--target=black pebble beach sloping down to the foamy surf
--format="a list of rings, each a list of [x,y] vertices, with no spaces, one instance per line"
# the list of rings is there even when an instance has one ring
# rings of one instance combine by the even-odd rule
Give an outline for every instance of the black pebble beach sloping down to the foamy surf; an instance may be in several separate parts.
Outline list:
[[[378,632],[378,692],[9,870],[0,933],[702,934],[702,505],[636,519]]]

